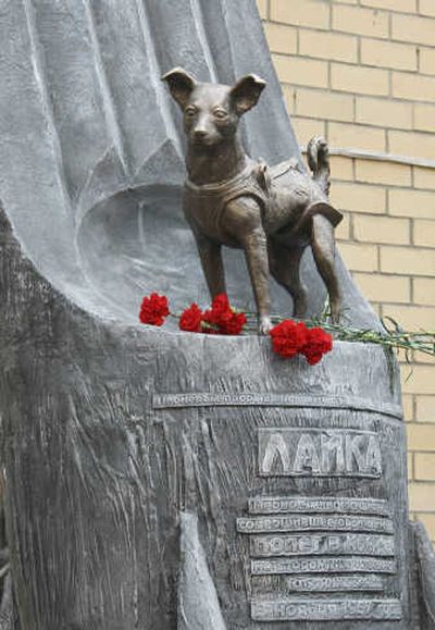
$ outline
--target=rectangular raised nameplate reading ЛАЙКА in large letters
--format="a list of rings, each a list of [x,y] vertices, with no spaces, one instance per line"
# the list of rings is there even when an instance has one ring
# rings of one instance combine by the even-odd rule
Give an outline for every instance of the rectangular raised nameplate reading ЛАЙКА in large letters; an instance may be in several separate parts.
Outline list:
[[[382,474],[376,433],[352,429],[259,429],[259,472],[264,477]]]

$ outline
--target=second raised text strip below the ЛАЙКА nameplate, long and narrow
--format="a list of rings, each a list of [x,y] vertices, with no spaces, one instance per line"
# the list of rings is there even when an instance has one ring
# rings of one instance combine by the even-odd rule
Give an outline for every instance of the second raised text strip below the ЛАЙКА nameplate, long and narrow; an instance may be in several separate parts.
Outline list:
[[[334,532],[393,533],[387,518],[369,516],[264,516],[238,518],[237,531],[244,534],[324,530]]]

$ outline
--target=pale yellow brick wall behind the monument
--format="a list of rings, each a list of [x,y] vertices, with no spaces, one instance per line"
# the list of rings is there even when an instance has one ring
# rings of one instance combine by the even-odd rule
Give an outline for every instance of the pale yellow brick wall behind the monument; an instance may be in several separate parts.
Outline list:
[[[435,0],[258,5],[301,145],[435,160]],[[333,156],[332,173],[357,283],[380,316],[435,330],[435,170]],[[435,541],[435,362],[401,362],[410,508]]]

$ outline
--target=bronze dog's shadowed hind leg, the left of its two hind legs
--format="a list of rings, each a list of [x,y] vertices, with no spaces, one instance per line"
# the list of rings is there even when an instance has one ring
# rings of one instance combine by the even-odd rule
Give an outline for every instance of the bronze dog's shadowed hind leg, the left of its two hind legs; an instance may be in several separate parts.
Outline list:
[[[307,312],[307,289],[300,277],[300,259],[304,247],[291,249],[269,240],[269,264],[273,277],[291,296],[294,317],[302,318]]]

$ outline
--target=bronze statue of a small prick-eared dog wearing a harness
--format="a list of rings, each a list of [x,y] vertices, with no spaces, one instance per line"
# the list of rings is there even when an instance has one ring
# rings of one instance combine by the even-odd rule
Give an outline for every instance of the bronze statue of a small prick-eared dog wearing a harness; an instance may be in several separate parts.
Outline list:
[[[308,146],[311,178],[295,160],[272,168],[252,161],[237,135],[240,116],[253,108],[265,82],[249,74],[233,87],[198,83],[176,67],[163,77],[182,108],[188,139],[184,213],[194,232],[211,297],[225,292],[222,245],[245,251],[259,317],[259,333],[271,329],[269,272],[291,295],[294,316],[307,310],[299,265],[311,245],[330,296],[332,317],[340,309],[335,273],[334,227],[343,219],[327,201],[327,145]]]

